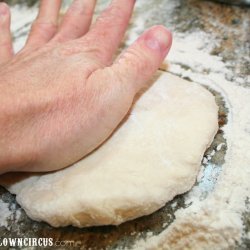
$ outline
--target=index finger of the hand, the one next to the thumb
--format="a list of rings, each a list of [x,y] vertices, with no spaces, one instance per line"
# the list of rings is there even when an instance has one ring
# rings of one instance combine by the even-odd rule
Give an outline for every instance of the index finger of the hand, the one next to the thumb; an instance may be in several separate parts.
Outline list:
[[[134,4],[135,0],[113,0],[84,38],[98,48],[102,63],[111,61],[124,36]]]

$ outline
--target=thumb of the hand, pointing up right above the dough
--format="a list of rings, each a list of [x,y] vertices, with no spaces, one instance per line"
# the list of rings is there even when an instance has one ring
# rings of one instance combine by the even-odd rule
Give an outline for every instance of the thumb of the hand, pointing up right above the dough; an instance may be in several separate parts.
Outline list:
[[[172,44],[171,33],[163,26],[146,31],[113,64],[111,70],[121,84],[138,92],[160,67]]]

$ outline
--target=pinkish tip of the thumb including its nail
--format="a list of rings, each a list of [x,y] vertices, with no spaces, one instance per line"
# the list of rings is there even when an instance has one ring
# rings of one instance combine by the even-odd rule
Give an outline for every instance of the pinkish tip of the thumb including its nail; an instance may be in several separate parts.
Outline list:
[[[153,50],[160,50],[165,54],[171,46],[171,33],[162,26],[153,28],[146,36],[146,45]]]

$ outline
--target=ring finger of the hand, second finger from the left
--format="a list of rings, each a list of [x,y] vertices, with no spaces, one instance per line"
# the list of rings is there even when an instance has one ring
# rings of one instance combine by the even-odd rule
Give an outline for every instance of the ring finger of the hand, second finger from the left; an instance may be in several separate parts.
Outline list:
[[[61,0],[41,0],[37,19],[32,25],[26,47],[39,47],[47,43],[57,31]]]

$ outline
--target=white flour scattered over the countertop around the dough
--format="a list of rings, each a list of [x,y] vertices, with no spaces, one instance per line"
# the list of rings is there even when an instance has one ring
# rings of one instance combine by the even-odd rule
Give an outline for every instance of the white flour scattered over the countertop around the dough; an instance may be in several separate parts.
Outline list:
[[[138,1],[137,4],[145,4]],[[35,12],[20,12],[16,7],[15,15],[24,20],[32,20]],[[169,5],[169,13],[174,4]],[[15,16],[14,15],[14,16]],[[133,20],[128,43],[138,36],[145,27],[147,13],[139,13]],[[166,13],[168,15],[168,13]],[[15,20],[19,20],[15,19]],[[21,20],[20,19],[20,20]],[[14,22],[15,23],[15,22]],[[17,30],[19,21],[13,25]],[[20,27],[22,24],[20,23]],[[172,28],[174,32],[174,28]],[[209,55],[216,41],[203,32],[180,34],[174,32],[173,48],[168,56],[171,73],[189,77],[192,81],[207,85],[218,91],[225,99],[229,109],[228,123],[224,127],[227,140],[227,152],[222,172],[217,184],[204,200],[200,200],[202,187],[194,187],[186,199],[191,205],[175,213],[175,221],[157,236],[148,235],[146,240],[139,240],[134,249],[228,249],[241,242],[244,235],[242,214],[249,211],[246,200],[250,193],[250,89],[241,87],[249,78],[238,78],[236,82],[227,81],[232,74],[226,63],[219,56]],[[24,38],[16,41],[15,48],[20,49]],[[190,68],[187,70],[187,68]],[[192,69],[192,70],[191,70]],[[220,150],[223,145],[217,148]],[[204,169],[202,171],[205,171]],[[203,173],[200,173],[202,178]],[[4,218],[8,210],[0,203]],[[1,207],[1,211],[2,211]],[[5,209],[5,210],[4,210]],[[2,219],[0,217],[0,223]],[[4,221],[4,220],[3,220]]]

